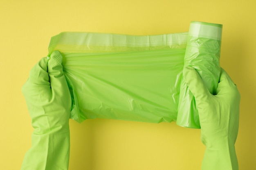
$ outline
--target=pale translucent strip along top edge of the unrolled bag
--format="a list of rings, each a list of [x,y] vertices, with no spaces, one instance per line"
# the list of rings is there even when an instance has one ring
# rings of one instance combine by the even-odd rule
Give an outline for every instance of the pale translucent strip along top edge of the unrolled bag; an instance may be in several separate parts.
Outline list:
[[[188,33],[121,35],[112,33],[63,32],[51,38],[49,54],[61,52],[130,52],[186,48]]]

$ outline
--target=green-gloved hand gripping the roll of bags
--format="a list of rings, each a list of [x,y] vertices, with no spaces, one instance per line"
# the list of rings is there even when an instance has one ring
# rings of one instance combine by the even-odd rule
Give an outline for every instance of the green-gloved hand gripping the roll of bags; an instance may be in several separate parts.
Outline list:
[[[216,95],[212,95],[194,68],[185,68],[183,74],[195,97],[201,140],[206,145],[202,170],[238,170],[234,144],[238,134],[240,94],[236,85],[221,69]]]

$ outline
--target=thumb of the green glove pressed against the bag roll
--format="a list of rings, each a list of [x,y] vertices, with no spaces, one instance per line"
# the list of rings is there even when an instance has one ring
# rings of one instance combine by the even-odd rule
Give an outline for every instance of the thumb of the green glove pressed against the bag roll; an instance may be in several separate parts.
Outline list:
[[[188,84],[189,90],[195,97],[197,106],[209,101],[212,96],[207,87],[204,85],[202,78],[193,67],[186,67],[183,69],[183,77]]]

